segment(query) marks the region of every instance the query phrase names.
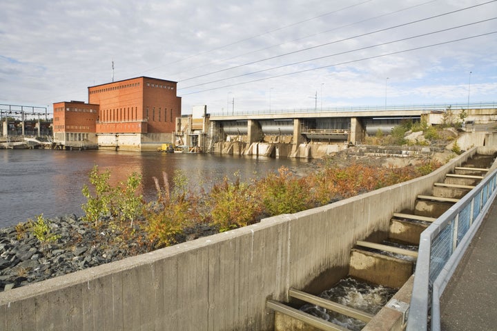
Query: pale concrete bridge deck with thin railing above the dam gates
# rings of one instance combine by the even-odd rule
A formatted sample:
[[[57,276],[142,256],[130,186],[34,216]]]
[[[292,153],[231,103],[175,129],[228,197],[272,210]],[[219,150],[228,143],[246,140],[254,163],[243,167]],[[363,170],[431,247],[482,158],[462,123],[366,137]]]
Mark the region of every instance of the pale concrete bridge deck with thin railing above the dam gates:
[[[320,112],[366,112],[366,111],[392,111],[392,110],[412,110],[420,111],[443,111],[451,107],[452,110],[459,109],[493,109],[497,108],[495,101],[484,101],[479,103],[428,103],[413,105],[391,105],[391,106],[349,106],[349,107],[329,107],[329,108],[294,108],[294,109],[262,109],[262,110],[237,110],[233,112],[211,112],[211,116],[239,116],[249,114],[293,114],[293,113],[320,113]]]

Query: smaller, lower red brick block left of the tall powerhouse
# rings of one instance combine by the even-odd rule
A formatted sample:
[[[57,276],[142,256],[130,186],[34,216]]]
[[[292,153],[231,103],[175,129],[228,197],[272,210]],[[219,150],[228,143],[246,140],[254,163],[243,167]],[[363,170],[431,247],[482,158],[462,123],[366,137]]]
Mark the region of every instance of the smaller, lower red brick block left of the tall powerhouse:
[[[99,105],[84,101],[64,101],[54,103],[53,110],[55,143],[75,147],[97,144],[95,133]]]

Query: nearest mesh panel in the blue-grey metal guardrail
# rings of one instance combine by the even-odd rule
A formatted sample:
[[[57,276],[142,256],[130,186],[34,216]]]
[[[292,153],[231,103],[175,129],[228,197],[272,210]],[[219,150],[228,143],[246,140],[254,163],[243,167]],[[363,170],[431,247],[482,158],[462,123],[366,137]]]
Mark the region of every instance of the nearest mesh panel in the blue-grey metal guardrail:
[[[430,257],[430,272],[429,281],[433,283],[440,271],[445,266],[452,254],[452,232],[454,228],[454,220],[445,226],[445,228],[438,233],[438,236],[431,243],[431,257]]]

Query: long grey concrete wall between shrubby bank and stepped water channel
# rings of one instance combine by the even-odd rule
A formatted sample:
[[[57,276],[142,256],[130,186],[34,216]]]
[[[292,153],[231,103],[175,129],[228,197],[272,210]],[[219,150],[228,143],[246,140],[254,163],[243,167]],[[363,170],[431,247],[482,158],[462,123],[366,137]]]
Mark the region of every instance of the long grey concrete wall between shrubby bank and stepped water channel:
[[[417,180],[2,292],[0,330],[272,330],[267,298],[329,287],[355,241],[387,232],[394,211],[474,152]]]

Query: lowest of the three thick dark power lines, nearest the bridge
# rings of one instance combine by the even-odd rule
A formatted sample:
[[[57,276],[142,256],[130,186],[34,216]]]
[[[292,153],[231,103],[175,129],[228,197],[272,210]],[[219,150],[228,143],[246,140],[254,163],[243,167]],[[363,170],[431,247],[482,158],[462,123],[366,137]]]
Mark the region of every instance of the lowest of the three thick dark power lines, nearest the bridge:
[[[313,70],[320,70],[320,69],[331,68],[331,67],[335,67],[335,66],[342,66],[344,64],[349,64],[349,63],[355,63],[355,62],[366,61],[366,60],[371,60],[371,59],[378,59],[380,57],[387,57],[387,56],[390,56],[390,55],[401,54],[401,53],[405,53],[405,52],[411,52],[413,50],[422,50],[422,49],[430,48],[430,47],[434,47],[434,46],[446,45],[447,43],[455,43],[457,41],[464,41],[464,40],[468,40],[468,39],[474,39],[474,38],[478,38],[478,37],[484,37],[484,36],[487,36],[487,35],[490,35],[490,34],[494,34],[494,33],[497,33],[497,31],[487,32],[487,33],[483,33],[483,34],[477,34],[475,36],[465,37],[465,38],[460,38],[460,39],[454,39],[454,40],[451,40],[451,41],[443,41],[441,43],[433,43],[433,44],[427,45],[427,46],[420,46],[420,47],[416,47],[416,48],[409,48],[407,50],[400,50],[400,51],[397,51],[397,52],[390,52],[390,53],[385,53],[385,54],[380,54],[380,55],[374,55],[372,57],[364,57],[362,59],[355,59],[355,60],[351,60],[351,61],[344,61],[344,62],[341,62],[341,63],[331,64],[331,65],[328,65],[328,66],[321,66],[321,67],[317,67],[317,68],[311,68],[311,69],[306,69],[306,70],[289,72],[289,73],[286,73],[286,74],[278,74],[278,75],[271,76],[271,77],[264,77],[264,78],[260,78],[260,79],[254,79],[252,81],[244,81],[244,82],[241,82],[241,83],[233,83],[233,84],[229,84],[229,85],[225,85],[225,86],[218,86],[216,88],[209,88],[209,89],[206,89],[206,90],[201,90],[201,91],[196,91],[196,92],[188,92],[188,93],[184,93],[183,95],[196,94],[196,93],[207,92],[207,91],[212,91],[212,90],[219,90],[221,88],[230,88],[232,86],[240,86],[240,85],[244,85],[244,84],[248,84],[248,83],[255,83],[257,81],[266,81],[268,79],[290,76],[291,74],[300,74],[302,72],[309,72],[309,71],[313,71]]]

